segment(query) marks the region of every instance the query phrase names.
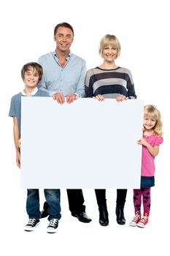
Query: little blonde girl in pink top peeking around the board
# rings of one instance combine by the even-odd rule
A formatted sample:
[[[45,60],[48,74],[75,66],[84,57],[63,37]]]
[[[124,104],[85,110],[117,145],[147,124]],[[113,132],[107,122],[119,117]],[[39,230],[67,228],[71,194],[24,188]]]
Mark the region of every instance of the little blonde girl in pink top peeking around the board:
[[[134,189],[134,219],[130,222],[132,227],[145,227],[150,215],[150,187],[155,186],[154,159],[159,153],[159,145],[163,143],[161,113],[154,105],[144,106],[143,138],[137,143],[142,145],[142,177],[141,189]],[[141,216],[141,203],[143,201],[144,214]]]

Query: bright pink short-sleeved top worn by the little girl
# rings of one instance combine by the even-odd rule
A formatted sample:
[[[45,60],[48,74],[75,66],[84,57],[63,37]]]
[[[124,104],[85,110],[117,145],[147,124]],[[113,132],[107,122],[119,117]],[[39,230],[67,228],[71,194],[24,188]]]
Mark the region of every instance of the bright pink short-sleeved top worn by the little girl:
[[[163,138],[161,136],[155,135],[153,133],[150,136],[143,135],[144,140],[147,140],[151,146],[159,146],[163,143]],[[142,146],[142,176],[154,176],[155,174],[155,157],[150,154],[146,146]]]

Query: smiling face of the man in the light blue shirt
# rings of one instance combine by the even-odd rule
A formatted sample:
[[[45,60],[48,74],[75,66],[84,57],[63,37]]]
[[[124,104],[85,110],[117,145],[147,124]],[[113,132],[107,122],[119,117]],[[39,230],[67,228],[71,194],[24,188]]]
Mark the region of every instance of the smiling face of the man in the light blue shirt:
[[[69,52],[69,48],[73,42],[72,30],[64,27],[59,27],[54,36],[57,50],[61,52]]]

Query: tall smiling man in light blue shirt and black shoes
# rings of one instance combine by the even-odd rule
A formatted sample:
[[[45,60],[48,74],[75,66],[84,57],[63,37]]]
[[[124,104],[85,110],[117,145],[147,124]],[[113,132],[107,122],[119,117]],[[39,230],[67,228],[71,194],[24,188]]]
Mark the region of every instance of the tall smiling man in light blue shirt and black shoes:
[[[44,74],[39,88],[48,91],[58,104],[72,103],[78,97],[85,96],[85,61],[70,52],[74,39],[74,30],[69,23],[59,23],[54,29],[55,51],[41,56],[38,60]],[[80,222],[90,222],[85,214],[82,189],[67,189],[69,210]],[[47,216],[47,202],[42,217]]]

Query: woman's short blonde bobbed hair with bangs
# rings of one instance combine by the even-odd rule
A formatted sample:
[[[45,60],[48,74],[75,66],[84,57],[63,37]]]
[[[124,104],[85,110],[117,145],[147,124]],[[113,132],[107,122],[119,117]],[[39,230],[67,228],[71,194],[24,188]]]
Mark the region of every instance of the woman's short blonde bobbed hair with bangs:
[[[113,47],[117,48],[117,57],[120,56],[120,42],[117,37],[114,36],[114,34],[106,34],[104,37],[101,38],[98,50],[98,53],[101,57],[103,57],[102,52],[104,47],[106,47],[107,45],[112,45]]]

